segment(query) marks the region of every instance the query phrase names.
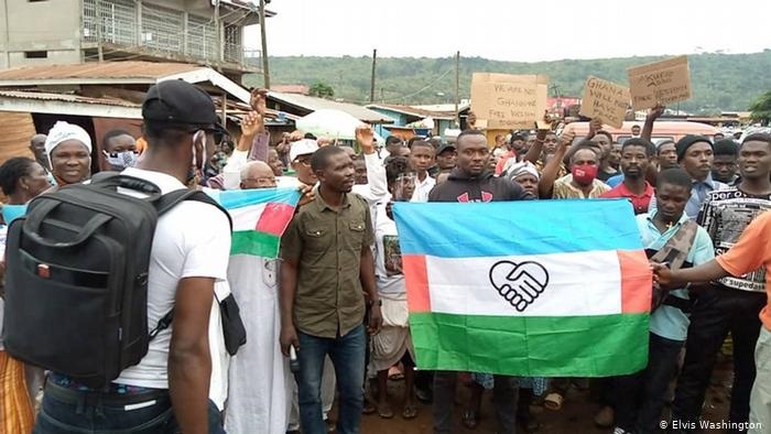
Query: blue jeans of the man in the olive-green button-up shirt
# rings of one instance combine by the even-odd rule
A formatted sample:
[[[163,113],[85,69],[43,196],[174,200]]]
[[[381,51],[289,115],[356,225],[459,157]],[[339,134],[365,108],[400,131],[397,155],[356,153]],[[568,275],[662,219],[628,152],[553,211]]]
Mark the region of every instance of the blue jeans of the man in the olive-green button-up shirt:
[[[329,355],[335,366],[339,391],[337,432],[357,434],[365,404],[365,351],[367,335],[363,326],[358,326],[345,336],[324,338],[297,332],[300,339],[300,372],[297,372],[297,394],[300,422],[305,434],[324,434],[327,431],[322,417],[322,371],[324,358]]]

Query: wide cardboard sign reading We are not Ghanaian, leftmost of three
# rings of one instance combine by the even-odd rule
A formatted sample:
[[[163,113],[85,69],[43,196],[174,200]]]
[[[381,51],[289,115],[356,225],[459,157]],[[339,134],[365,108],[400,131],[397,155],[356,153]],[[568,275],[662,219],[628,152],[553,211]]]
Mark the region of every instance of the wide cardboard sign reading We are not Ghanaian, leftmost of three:
[[[546,110],[547,82],[543,75],[474,73],[471,111],[493,130],[533,128]]]

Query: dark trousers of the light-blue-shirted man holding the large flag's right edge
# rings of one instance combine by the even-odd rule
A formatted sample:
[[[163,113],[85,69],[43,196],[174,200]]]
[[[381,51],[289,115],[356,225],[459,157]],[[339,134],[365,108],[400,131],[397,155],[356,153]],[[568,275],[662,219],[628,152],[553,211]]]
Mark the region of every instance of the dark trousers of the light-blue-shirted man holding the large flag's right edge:
[[[677,373],[677,356],[685,343],[650,334],[648,367],[615,378],[616,426],[638,434],[660,430],[670,381]]]

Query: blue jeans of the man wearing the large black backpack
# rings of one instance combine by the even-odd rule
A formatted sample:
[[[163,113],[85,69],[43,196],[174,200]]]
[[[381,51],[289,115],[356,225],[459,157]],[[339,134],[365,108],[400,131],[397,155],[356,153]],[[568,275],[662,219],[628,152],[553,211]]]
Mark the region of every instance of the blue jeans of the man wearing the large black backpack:
[[[47,390],[47,389],[46,389]],[[154,404],[135,410],[126,405],[100,402],[95,394],[77,392],[77,403],[44,393],[43,404],[33,434],[177,434],[180,426],[174,419],[169,393],[151,400]],[[115,395],[110,395],[115,397]],[[141,404],[139,404],[141,405]],[[209,433],[225,434],[222,420],[214,402],[209,401]]]

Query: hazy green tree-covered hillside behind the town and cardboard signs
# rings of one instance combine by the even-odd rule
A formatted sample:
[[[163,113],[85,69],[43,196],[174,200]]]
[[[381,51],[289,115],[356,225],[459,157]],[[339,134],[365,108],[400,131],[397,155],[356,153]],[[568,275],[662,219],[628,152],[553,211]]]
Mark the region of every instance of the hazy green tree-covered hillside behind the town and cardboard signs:
[[[463,54],[463,53],[461,53]],[[539,63],[499,62],[460,57],[460,97],[469,97],[471,74],[545,74],[550,96],[579,96],[589,75],[626,85],[627,68],[665,58],[625,57]],[[705,53],[688,56],[693,98],[681,110],[697,113],[747,110],[771,89],[771,50],[752,54]],[[370,57],[271,57],[272,84],[304,84],[348,101],[369,102]],[[376,102],[439,104],[455,97],[455,58],[378,58]],[[247,86],[261,86],[260,75],[245,77]]]

